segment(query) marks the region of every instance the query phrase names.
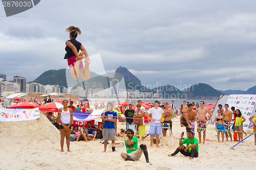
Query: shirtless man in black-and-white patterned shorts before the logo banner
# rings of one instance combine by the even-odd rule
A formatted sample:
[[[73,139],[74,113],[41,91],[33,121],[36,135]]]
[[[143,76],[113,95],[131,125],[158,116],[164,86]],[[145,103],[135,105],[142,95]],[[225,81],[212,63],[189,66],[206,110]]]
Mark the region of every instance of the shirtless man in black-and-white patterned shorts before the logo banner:
[[[232,120],[232,112],[230,110],[228,110],[228,104],[225,104],[224,107],[225,107],[225,111],[223,111],[222,114],[223,114],[223,117],[224,117],[224,127],[225,127],[225,131],[226,131],[225,135],[226,135],[226,138],[227,138],[226,141],[228,141],[228,135],[230,137],[230,140],[233,141],[232,140],[232,134],[230,132],[230,122]]]

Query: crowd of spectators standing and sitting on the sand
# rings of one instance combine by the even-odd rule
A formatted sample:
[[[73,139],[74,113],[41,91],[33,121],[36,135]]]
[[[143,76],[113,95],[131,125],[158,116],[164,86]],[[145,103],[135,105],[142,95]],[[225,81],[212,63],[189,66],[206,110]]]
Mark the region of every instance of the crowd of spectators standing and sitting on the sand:
[[[73,127],[73,132],[76,133],[76,141],[85,140],[88,141],[90,139],[89,134],[92,134],[93,140],[95,140],[96,135],[98,134],[96,130],[99,131],[101,135],[101,139],[103,139],[104,150],[106,152],[106,146],[108,144],[109,139],[112,144],[112,151],[115,152],[115,139],[117,135],[123,136],[125,140],[126,152],[121,153],[121,157],[124,160],[136,161],[140,159],[142,153],[144,153],[146,162],[150,163],[148,160],[148,153],[146,149],[146,145],[143,143],[138,147],[137,138],[134,137],[134,134],[138,132],[138,127],[143,125],[143,120],[147,118],[150,123],[150,129],[148,135],[150,135],[150,147],[153,147],[153,141],[156,143],[156,147],[159,146],[159,136],[166,136],[167,128],[169,127],[170,131],[172,131],[172,125],[174,117],[180,116],[180,126],[185,127],[186,129],[186,138],[183,138],[184,133],[181,134],[181,138],[179,141],[179,147],[176,151],[168,156],[175,156],[179,152],[185,156],[188,156],[189,159],[193,159],[198,157],[199,155],[199,143],[204,144],[206,139],[206,129],[208,125],[208,121],[212,116],[212,110],[205,108],[205,103],[201,101],[199,104],[193,102],[187,103],[186,101],[179,107],[179,111],[176,112],[177,108],[172,101],[172,104],[168,102],[164,102],[163,105],[160,104],[159,101],[155,101],[153,107],[144,108],[141,105],[141,101],[138,101],[135,109],[132,109],[133,105],[129,104],[127,109],[123,110],[123,114],[126,122],[126,133],[117,131],[117,122],[118,117],[116,110],[120,111],[120,108],[117,107],[115,102],[108,102],[106,105],[105,111],[103,111],[101,119],[102,124],[96,128],[91,126],[91,123],[88,123],[88,127],[81,132],[77,126]],[[71,132],[71,124],[72,124],[72,112],[76,110],[73,107],[73,103],[70,102],[68,106],[68,101],[64,100],[62,102],[63,108],[58,110],[58,122],[59,122],[59,130],[60,130],[60,145],[61,151],[63,151],[63,139],[66,137],[67,147],[69,150],[69,134]],[[95,109],[96,108],[96,105]],[[215,128],[217,131],[217,139],[219,142],[224,142],[224,134],[226,136],[226,141],[242,141],[243,140],[243,123],[245,122],[245,117],[242,115],[239,109],[235,110],[231,107],[229,110],[228,104],[224,105],[224,109],[222,106],[218,106],[218,114],[215,119]],[[115,109],[115,111],[113,110]],[[123,109],[123,108],[121,108]],[[256,112],[256,110],[255,110]],[[51,113],[49,113],[48,118],[51,117]],[[233,126],[230,125],[231,121],[234,121]],[[250,122],[253,124],[253,131],[256,130],[256,116],[251,116],[249,118]],[[197,124],[197,128],[195,128],[195,124]],[[136,129],[129,129],[129,125],[136,125]],[[195,137],[195,129],[198,132],[198,138]],[[232,140],[231,132],[238,132],[238,139]],[[203,136],[201,136],[203,133]],[[220,139],[220,135],[222,140]],[[256,145],[256,135],[254,134],[255,145]],[[183,145],[186,144],[186,145]]]

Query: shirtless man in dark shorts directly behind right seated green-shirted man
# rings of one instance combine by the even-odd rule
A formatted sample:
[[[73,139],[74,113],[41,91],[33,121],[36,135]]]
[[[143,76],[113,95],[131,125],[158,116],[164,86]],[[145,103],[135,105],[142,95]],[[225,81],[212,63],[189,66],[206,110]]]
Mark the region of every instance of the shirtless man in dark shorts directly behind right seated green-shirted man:
[[[195,121],[196,121],[196,111],[193,109],[193,105],[189,103],[188,109],[184,111],[180,116],[180,126],[186,127],[187,136],[188,136],[188,131],[191,131],[194,129],[194,127],[191,126],[191,123]]]

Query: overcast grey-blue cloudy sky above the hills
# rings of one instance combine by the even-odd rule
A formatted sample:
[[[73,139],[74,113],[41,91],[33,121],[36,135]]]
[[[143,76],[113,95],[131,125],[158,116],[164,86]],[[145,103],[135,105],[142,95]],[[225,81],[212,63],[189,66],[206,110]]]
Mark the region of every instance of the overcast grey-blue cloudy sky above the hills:
[[[54,0],[6,17],[0,5],[0,73],[33,81],[67,68],[65,28],[73,25],[106,72],[126,67],[143,85],[247,90],[256,85],[255,7],[234,0]]]

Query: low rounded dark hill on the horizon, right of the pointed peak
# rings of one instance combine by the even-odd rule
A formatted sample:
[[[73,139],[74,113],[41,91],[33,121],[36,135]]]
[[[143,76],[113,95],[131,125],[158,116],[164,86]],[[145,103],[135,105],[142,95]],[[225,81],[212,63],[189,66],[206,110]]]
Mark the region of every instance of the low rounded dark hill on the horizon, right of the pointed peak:
[[[219,97],[221,92],[212,88],[208,84],[198,83],[190,86],[185,91],[189,99],[202,99],[207,97]]]

